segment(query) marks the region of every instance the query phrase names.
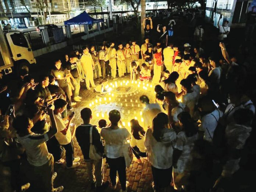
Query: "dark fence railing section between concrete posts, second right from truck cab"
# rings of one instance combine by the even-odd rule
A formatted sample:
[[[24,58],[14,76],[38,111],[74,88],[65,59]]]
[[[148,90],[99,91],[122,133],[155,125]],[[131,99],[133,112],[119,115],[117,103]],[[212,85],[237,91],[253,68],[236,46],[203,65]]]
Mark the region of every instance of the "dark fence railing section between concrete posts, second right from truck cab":
[[[49,40],[52,44],[60,43],[67,40],[67,29],[65,26],[51,28],[48,31]]]

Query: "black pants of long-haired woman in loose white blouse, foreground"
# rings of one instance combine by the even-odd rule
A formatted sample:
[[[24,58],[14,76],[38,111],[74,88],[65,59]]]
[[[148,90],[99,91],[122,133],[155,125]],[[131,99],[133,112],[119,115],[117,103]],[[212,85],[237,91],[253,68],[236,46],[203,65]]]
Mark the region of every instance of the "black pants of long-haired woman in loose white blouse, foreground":
[[[154,187],[156,190],[159,190],[161,188],[166,188],[171,184],[172,167],[168,169],[159,169],[151,166],[151,168],[152,168]]]

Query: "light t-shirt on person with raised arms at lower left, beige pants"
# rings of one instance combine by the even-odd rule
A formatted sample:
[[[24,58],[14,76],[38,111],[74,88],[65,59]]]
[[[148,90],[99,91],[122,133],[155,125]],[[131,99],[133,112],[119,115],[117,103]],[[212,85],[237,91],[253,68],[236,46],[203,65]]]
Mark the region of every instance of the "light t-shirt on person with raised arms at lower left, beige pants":
[[[49,140],[47,134],[40,135],[32,132],[24,137],[17,135],[17,138],[26,150],[29,164],[39,167],[50,160],[51,154],[48,153],[46,146],[46,141]]]

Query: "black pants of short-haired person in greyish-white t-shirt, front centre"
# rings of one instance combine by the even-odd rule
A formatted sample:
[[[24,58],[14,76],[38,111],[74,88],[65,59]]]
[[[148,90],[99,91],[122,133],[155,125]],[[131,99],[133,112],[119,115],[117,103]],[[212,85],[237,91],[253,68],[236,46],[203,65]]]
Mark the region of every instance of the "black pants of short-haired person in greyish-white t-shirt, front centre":
[[[118,157],[115,159],[111,159],[106,157],[107,163],[109,163],[109,176],[112,182],[112,185],[116,184],[116,177],[117,177],[117,172],[119,175],[119,180],[121,183],[122,190],[126,190],[126,166],[125,166],[125,160],[124,157]]]

